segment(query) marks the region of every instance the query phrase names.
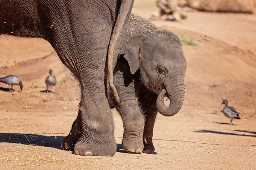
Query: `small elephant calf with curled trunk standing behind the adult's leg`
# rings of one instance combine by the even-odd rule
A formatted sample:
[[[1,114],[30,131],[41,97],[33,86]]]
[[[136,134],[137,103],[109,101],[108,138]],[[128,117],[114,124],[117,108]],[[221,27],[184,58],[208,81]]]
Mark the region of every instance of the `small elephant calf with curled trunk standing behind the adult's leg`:
[[[123,105],[114,102],[111,92],[110,101],[122,117],[122,146],[133,153],[154,153],[157,111],[173,116],[183,105],[186,59],[175,34],[135,14],[131,14],[125,42],[113,72]],[[164,103],[165,96],[169,106]]]

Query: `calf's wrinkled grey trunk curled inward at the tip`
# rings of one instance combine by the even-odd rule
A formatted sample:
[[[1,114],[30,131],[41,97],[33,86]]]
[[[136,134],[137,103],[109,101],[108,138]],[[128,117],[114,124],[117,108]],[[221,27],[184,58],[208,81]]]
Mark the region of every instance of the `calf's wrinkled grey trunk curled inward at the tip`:
[[[164,97],[170,100],[169,106],[164,103]],[[185,96],[184,80],[175,80],[171,86],[160,91],[157,96],[157,109],[163,116],[173,116],[180,111]]]

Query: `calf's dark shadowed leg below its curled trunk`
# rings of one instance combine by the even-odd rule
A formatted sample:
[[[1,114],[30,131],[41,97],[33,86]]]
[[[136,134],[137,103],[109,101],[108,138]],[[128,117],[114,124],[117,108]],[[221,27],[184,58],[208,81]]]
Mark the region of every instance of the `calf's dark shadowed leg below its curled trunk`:
[[[138,102],[143,106],[143,113],[145,114],[145,126],[143,132],[143,153],[154,153],[155,148],[152,138],[154,122],[157,116],[157,95],[152,94],[151,91],[145,92],[144,94],[140,94]]]

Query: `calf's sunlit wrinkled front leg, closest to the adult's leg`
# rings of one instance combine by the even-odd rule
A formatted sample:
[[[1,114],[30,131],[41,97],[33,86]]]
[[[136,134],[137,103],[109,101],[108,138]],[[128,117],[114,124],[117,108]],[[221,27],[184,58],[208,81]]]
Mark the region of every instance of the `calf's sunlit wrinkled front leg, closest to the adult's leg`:
[[[116,107],[124,127],[122,146],[128,152],[141,153],[143,151],[144,119],[137,105],[134,82],[131,82],[128,86],[125,85],[122,73],[118,73],[113,75],[113,79],[118,95],[123,101],[122,106],[117,105]]]

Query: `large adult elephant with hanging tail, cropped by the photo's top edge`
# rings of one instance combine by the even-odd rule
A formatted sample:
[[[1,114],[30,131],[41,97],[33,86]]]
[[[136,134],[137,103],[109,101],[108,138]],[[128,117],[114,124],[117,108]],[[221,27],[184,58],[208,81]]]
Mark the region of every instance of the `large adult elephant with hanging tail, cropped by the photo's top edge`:
[[[113,86],[113,65],[133,3],[134,0],[0,1],[0,34],[49,41],[80,83],[77,122],[81,135],[74,146],[75,154],[113,156],[116,152],[107,77],[109,72],[110,86],[119,102]]]

